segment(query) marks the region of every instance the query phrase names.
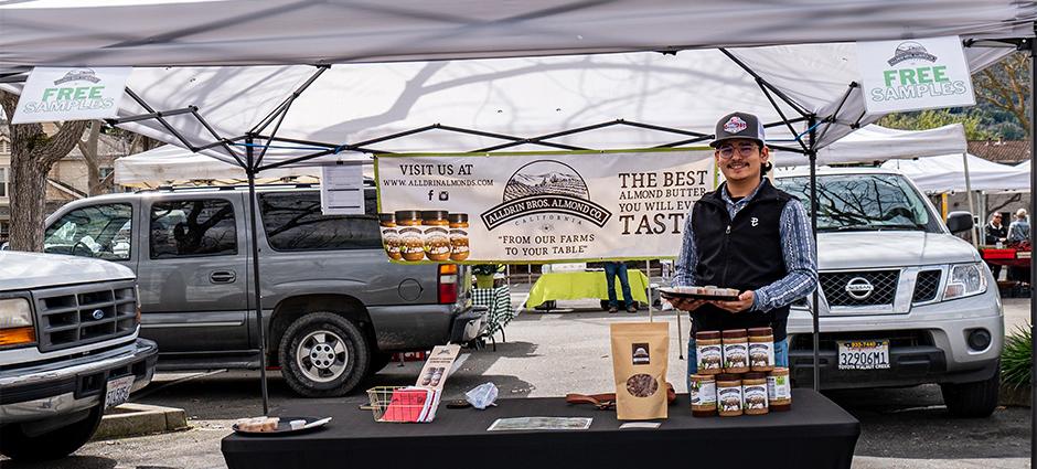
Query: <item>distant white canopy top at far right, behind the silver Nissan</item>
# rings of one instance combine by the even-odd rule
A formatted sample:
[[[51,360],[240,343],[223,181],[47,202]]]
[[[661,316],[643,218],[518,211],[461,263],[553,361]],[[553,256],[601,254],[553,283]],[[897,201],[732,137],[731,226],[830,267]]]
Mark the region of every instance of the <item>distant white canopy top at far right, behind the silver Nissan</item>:
[[[969,154],[969,179],[973,191],[997,192],[1029,190],[1029,168],[999,164]],[[895,169],[915,181],[926,192],[961,192],[965,190],[965,167],[961,153],[889,160],[883,168]]]

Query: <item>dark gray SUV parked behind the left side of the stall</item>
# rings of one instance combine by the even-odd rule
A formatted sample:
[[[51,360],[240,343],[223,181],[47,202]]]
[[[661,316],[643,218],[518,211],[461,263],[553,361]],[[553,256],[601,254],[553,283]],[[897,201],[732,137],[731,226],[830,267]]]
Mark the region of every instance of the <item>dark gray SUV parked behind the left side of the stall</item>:
[[[137,273],[160,370],[257,369],[247,198],[223,186],[79,200],[47,218],[45,251]],[[482,333],[467,267],[389,263],[372,189],[364,215],[322,215],[306,184],[256,198],[268,363],[299,394],[343,395],[392,352]]]

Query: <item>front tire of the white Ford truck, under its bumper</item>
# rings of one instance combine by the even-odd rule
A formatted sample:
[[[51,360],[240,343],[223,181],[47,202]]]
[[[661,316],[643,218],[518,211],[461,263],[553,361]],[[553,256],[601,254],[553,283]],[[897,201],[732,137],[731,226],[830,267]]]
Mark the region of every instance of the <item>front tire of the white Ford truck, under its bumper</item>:
[[[21,425],[8,425],[0,429],[0,452],[18,461],[64,458],[94,436],[104,414],[104,405],[98,405],[88,411],[86,418],[36,436],[25,435]]]

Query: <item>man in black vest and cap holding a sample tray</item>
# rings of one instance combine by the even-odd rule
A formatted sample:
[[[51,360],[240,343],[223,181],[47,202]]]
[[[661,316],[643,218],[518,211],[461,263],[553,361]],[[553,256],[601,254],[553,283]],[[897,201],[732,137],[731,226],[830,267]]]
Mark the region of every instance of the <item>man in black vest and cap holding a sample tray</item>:
[[[726,181],[688,213],[673,285],[715,285],[741,294],[735,301],[670,300],[692,316],[688,374],[697,370],[697,331],[770,327],[776,364],[788,366],[789,305],[817,286],[806,212],[763,178],[771,168],[770,152],[756,116],[724,116],[709,145]]]

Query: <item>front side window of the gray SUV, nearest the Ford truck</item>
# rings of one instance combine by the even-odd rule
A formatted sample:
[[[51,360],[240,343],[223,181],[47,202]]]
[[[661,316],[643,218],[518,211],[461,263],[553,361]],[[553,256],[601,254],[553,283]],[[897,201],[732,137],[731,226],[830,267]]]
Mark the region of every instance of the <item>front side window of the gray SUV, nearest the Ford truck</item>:
[[[132,247],[132,228],[133,207],[128,203],[84,206],[47,226],[43,233],[43,251],[127,260]]]

